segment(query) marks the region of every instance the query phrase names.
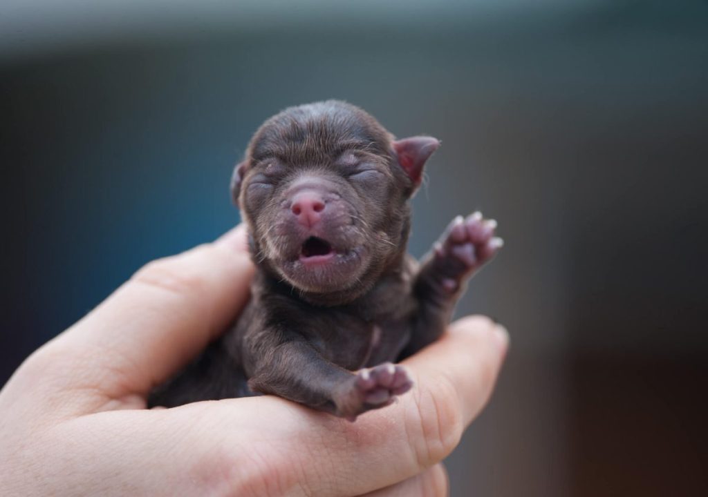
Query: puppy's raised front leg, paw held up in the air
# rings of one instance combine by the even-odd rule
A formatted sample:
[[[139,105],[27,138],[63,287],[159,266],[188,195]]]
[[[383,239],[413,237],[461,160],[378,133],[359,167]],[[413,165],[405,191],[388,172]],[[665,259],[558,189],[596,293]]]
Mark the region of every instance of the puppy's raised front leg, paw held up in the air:
[[[467,218],[457,216],[435,242],[413,285],[419,312],[404,356],[440,337],[469,277],[502,247],[501,238],[494,236],[495,229],[496,221],[475,212]]]

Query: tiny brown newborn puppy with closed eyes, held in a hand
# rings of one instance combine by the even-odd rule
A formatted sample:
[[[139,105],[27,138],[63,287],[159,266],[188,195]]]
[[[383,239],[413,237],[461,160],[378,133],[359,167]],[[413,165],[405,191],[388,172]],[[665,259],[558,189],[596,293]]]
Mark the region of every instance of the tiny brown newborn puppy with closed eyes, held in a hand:
[[[404,394],[399,361],[445,330],[474,270],[501,247],[496,222],[455,218],[421,264],[406,254],[423,165],[440,142],[395,140],[336,100],[266,121],[232,195],[258,271],[233,329],[152,405],[275,394],[355,419]]]

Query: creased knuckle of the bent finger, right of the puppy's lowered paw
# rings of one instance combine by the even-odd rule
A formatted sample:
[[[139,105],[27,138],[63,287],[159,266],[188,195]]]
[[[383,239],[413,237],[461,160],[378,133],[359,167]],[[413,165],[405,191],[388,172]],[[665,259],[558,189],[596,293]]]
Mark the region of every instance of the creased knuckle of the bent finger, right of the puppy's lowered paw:
[[[416,396],[419,441],[414,443],[418,465],[430,467],[440,462],[457,447],[464,431],[462,409],[457,391],[447,378]]]

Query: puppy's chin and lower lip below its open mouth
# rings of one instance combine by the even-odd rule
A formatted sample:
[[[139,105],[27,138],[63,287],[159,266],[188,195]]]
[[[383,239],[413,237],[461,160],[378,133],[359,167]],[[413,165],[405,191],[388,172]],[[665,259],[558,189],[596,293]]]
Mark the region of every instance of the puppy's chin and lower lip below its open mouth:
[[[370,263],[367,247],[327,250],[328,247],[318,243],[312,242],[312,251],[304,250],[297,257],[271,264],[285,281],[302,292],[341,293],[358,286]]]

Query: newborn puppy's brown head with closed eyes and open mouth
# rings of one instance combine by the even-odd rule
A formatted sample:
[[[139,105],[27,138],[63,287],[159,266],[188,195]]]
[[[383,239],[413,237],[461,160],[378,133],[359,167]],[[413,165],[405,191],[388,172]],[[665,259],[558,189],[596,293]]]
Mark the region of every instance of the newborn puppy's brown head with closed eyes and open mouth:
[[[438,145],[336,100],[271,117],[232,179],[256,262],[309,300],[354,300],[406,250],[407,201]]]

